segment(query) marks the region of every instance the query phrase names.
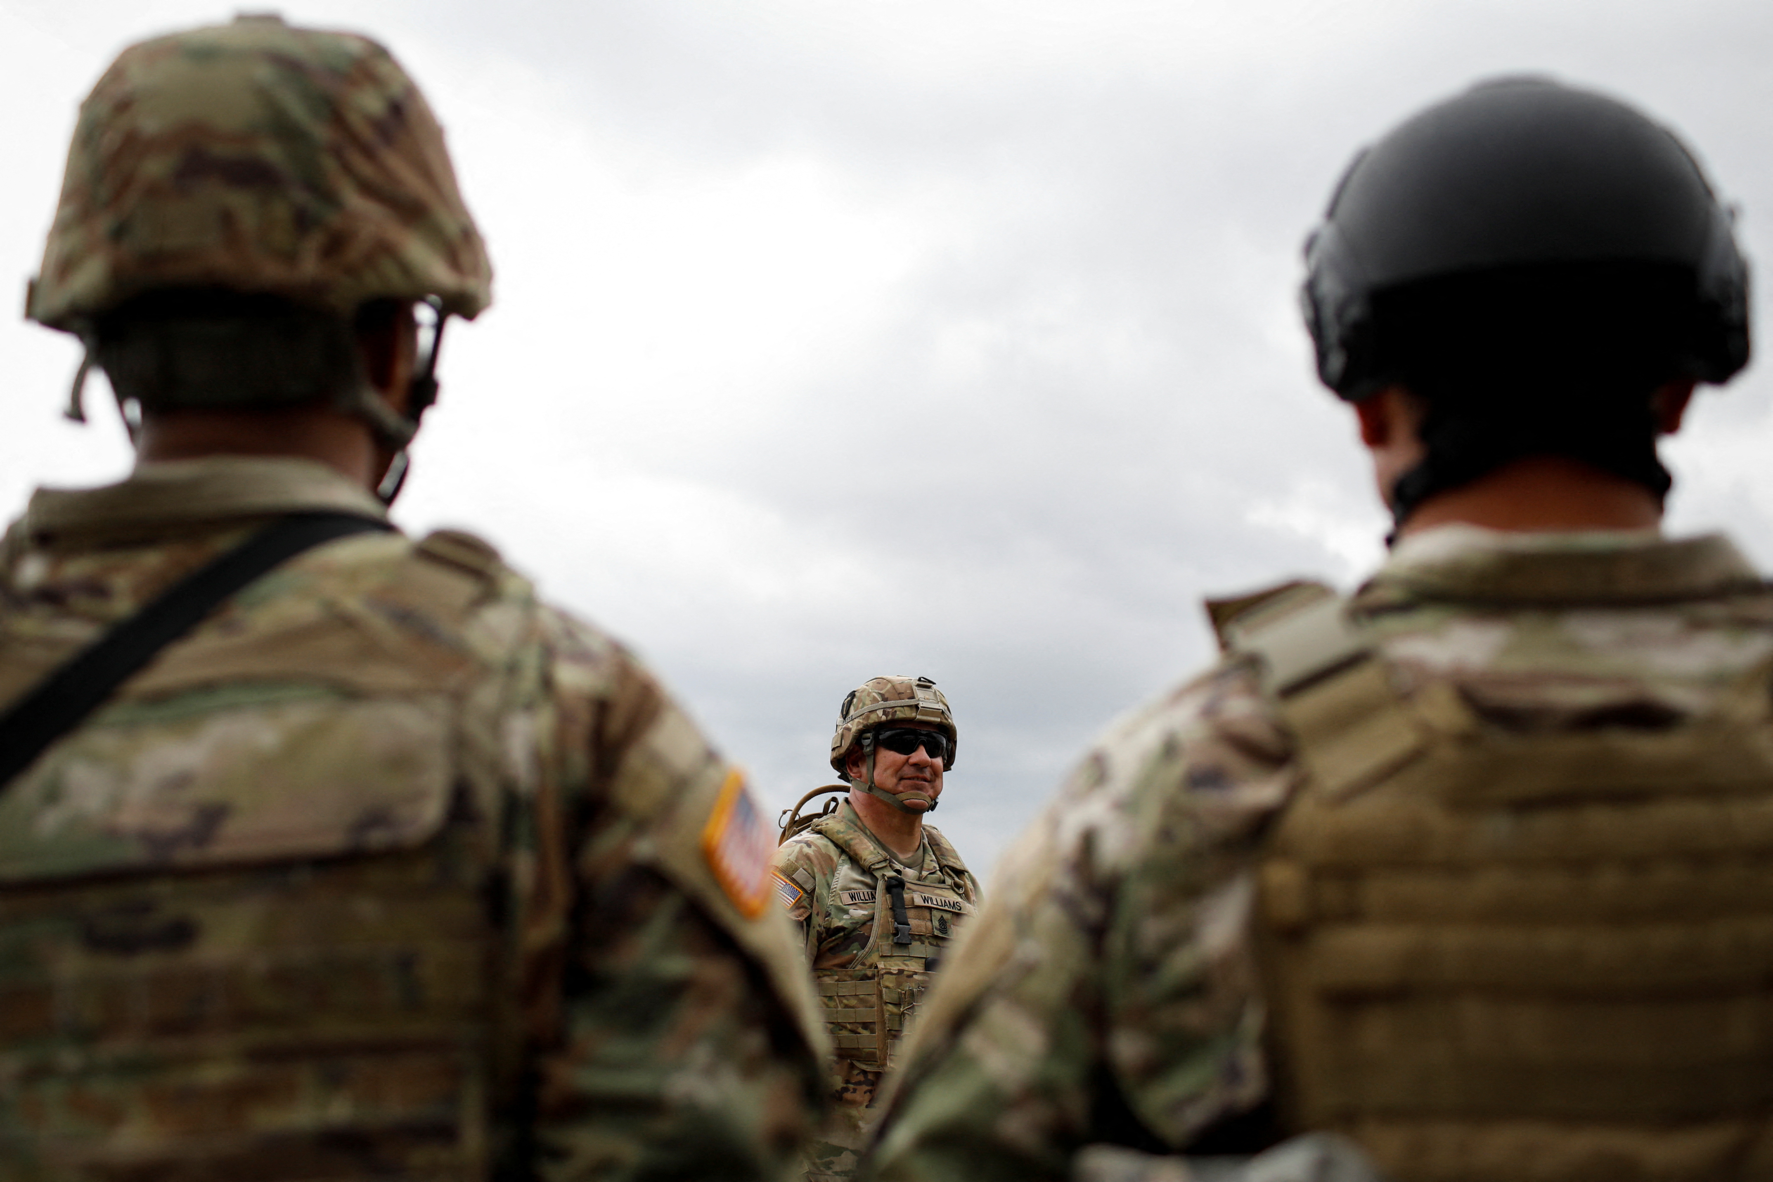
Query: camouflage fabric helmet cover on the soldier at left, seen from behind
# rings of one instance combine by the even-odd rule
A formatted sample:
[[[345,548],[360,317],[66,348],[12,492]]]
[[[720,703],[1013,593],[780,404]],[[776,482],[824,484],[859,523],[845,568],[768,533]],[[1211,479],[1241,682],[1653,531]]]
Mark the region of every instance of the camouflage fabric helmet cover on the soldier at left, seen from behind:
[[[129,46],[99,78],[25,312],[80,333],[161,287],[344,314],[436,296],[473,317],[491,264],[443,131],[387,50],[241,16]]]

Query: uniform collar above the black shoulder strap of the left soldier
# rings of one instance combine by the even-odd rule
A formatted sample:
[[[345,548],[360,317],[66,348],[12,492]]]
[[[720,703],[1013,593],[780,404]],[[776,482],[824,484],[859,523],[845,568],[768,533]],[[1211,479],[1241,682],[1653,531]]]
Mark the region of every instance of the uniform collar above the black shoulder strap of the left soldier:
[[[37,489],[25,509],[25,532],[67,539],[303,510],[388,516],[367,489],[326,464],[211,455],[142,464],[129,478],[96,489]]]

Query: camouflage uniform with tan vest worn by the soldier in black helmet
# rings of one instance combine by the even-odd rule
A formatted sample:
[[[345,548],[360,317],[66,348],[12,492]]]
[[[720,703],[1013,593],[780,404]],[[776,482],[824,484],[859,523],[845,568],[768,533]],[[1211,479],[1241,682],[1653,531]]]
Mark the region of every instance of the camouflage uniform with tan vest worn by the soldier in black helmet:
[[[1278,693],[1300,603],[1218,604],[1229,659],[1012,847],[878,1177],[1067,1178],[1275,1102],[1395,1182],[1773,1177],[1773,594],[1720,537],[1447,526]]]

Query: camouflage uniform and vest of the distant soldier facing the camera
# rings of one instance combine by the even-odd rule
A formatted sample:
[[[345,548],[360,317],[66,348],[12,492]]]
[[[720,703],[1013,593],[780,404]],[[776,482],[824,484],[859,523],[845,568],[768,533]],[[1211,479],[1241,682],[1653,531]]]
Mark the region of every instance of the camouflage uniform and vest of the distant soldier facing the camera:
[[[943,950],[979,902],[979,883],[949,840],[934,826],[922,829],[917,858],[899,861],[844,801],[775,858],[777,893],[801,925],[837,1049],[837,1111],[808,1150],[808,1182],[855,1175],[881,1074]],[[894,879],[904,883],[911,927],[904,945],[894,939]]]

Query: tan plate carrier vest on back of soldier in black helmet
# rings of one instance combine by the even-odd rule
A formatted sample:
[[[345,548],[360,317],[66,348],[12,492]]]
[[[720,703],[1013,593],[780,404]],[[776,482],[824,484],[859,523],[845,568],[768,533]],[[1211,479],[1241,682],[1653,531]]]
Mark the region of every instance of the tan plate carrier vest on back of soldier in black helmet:
[[[1402,698],[1323,587],[1220,633],[1303,769],[1257,879],[1291,1127],[1392,1182],[1773,1178],[1773,670],[1523,730]]]

